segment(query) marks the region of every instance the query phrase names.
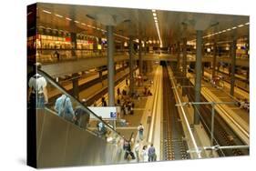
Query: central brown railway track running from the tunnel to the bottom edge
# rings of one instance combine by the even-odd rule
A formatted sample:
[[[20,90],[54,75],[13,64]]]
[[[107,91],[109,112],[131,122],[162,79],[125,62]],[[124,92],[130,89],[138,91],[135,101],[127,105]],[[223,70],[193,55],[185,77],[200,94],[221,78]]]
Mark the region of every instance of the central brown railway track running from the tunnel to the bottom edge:
[[[167,67],[163,65],[163,159],[189,159],[188,145],[184,140],[175,97],[170,87]]]

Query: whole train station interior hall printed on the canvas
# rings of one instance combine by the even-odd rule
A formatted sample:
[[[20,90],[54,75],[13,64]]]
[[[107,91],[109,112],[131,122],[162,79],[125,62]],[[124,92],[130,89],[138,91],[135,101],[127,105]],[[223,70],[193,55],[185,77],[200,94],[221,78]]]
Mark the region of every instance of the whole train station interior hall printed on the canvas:
[[[38,167],[250,155],[249,16],[37,3],[27,22]]]

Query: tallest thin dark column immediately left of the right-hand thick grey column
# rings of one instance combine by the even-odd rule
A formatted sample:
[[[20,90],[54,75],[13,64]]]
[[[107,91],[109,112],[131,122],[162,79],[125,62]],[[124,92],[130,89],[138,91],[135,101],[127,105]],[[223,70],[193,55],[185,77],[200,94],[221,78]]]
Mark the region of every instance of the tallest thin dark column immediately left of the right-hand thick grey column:
[[[182,85],[187,85],[187,38],[183,38],[183,56],[182,56]],[[186,87],[182,87],[182,96],[186,95]]]

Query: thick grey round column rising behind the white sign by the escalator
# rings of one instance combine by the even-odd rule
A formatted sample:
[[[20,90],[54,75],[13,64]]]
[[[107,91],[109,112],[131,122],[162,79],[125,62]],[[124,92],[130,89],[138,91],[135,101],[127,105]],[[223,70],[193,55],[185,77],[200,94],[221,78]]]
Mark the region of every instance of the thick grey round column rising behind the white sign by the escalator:
[[[115,80],[114,80],[114,26],[107,25],[108,43],[108,106],[115,106]]]

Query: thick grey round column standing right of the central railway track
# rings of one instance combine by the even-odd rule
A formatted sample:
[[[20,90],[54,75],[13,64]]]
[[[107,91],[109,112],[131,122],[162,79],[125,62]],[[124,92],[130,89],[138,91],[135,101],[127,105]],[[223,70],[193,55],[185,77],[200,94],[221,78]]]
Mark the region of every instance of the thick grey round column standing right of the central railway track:
[[[200,89],[201,89],[201,43],[202,43],[202,30],[197,30],[197,55],[196,55],[196,82],[195,82],[195,102],[200,102]],[[200,124],[200,105],[195,105],[194,108],[194,125]]]

